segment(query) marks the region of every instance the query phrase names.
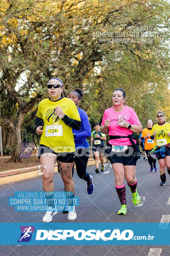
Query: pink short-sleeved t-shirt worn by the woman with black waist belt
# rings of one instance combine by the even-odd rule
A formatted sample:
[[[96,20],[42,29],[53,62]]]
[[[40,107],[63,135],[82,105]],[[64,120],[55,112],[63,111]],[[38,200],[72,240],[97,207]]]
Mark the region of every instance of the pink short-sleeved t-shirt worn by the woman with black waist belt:
[[[131,125],[140,124],[139,118],[137,117],[136,112],[133,110],[133,108],[125,106],[124,110],[119,113],[115,112],[113,107],[108,108],[104,112],[102,124],[101,124],[101,126],[104,125],[105,120],[107,119],[111,120],[108,135],[128,136],[130,134],[133,134],[133,131],[130,131],[125,127],[119,126],[118,120],[120,118],[125,119],[125,121],[130,123]],[[136,143],[136,140],[133,140],[133,141],[134,143]],[[109,140],[109,143],[111,145],[131,145],[130,140],[128,138]]]

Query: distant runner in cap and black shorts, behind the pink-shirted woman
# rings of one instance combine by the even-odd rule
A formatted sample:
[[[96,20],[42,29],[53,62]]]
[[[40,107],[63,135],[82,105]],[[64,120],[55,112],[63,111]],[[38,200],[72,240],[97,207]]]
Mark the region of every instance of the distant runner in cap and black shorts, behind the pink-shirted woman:
[[[103,154],[105,151],[105,143],[104,140],[106,140],[106,135],[102,134],[102,132],[100,131],[100,125],[98,122],[95,123],[94,125],[94,129],[95,131],[92,131],[91,134],[91,141],[93,142],[93,147],[92,150],[94,152],[94,156],[95,156],[95,165],[96,165],[96,173],[99,173],[99,159],[101,162],[101,172],[104,171],[104,158],[103,158]]]

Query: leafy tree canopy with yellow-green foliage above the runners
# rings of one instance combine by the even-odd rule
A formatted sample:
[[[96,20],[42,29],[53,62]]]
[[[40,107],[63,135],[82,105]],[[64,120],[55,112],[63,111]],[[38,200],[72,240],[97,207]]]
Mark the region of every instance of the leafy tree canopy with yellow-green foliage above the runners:
[[[0,124],[12,160],[19,155],[20,130],[35,118],[53,76],[67,92],[86,87],[80,107],[91,125],[112,106],[117,87],[143,125],[158,109],[168,113],[166,1],[0,0],[0,6]]]

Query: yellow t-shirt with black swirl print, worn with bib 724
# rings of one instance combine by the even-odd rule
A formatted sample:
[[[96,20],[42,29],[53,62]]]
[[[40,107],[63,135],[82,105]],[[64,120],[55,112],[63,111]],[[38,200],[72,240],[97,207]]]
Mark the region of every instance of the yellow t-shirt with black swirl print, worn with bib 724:
[[[65,115],[72,119],[81,121],[79,112],[71,99],[63,98],[57,102],[49,99],[43,99],[38,106],[37,116],[43,119],[44,128],[40,139],[40,144],[52,148],[55,152],[74,152],[75,143],[72,128],[65,122],[57,118],[55,108],[59,106]],[[62,136],[45,136],[45,127],[47,125],[62,125]],[[55,129],[54,129],[55,130]],[[53,132],[53,131],[52,131]]]

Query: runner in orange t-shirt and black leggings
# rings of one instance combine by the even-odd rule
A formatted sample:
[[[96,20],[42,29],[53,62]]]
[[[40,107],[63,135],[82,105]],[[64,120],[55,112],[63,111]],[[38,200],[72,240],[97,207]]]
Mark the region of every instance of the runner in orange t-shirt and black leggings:
[[[153,172],[153,168],[155,172],[157,172],[158,169],[156,168],[156,159],[153,159],[150,155],[150,151],[156,146],[156,140],[150,139],[150,132],[152,130],[152,126],[153,126],[153,121],[149,119],[147,121],[147,128],[144,128],[142,131],[141,139],[144,140],[144,150],[147,154],[147,160],[150,165],[150,172]]]

